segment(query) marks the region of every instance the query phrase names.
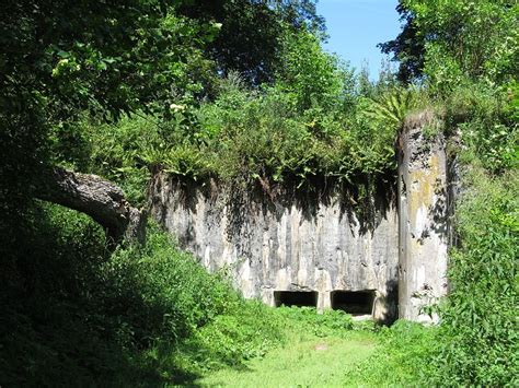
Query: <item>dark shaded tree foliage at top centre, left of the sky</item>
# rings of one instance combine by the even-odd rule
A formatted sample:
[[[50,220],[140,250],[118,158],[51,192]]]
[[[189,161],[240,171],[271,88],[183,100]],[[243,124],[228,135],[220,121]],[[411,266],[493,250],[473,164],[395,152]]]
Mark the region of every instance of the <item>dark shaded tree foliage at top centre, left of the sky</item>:
[[[258,86],[272,83],[275,73],[285,66],[280,52],[287,30],[293,33],[325,30],[315,3],[315,0],[185,1],[180,12],[219,23],[220,31],[207,47],[209,56],[223,74],[239,72],[247,85]]]

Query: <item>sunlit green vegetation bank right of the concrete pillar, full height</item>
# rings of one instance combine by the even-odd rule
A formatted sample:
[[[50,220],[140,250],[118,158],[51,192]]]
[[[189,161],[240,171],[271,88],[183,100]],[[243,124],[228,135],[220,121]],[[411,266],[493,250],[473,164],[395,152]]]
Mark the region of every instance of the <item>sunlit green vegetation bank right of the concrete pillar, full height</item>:
[[[519,9],[514,1],[404,0],[400,10],[407,24],[385,47],[406,59],[401,75],[423,78],[451,137],[461,178],[458,244],[439,327],[396,325],[388,343],[396,351],[377,360],[402,372],[395,384],[516,386]]]

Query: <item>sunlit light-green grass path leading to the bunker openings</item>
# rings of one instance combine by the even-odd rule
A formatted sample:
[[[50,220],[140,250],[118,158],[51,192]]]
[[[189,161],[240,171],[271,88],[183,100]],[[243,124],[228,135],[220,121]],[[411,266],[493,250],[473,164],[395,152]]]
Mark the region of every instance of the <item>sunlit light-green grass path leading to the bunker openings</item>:
[[[355,330],[349,317],[286,309],[286,341],[241,368],[215,371],[203,387],[344,387],[345,376],[374,353],[377,336]],[[359,381],[361,383],[361,381]],[[357,381],[351,381],[358,386]]]

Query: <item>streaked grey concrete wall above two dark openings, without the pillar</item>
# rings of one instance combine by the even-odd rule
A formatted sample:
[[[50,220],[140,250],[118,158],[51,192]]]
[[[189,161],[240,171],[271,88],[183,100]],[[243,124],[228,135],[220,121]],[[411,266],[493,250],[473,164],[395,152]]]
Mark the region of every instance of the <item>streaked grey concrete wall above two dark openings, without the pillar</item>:
[[[318,291],[318,307],[326,308],[334,290],[374,290],[373,317],[396,315],[399,223],[387,199],[376,198],[370,220],[359,220],[341,193],[272,201],[162,175],[152,203],[181,246],[211,271],[227,267],[245,297],[273,305],[274,291]]]

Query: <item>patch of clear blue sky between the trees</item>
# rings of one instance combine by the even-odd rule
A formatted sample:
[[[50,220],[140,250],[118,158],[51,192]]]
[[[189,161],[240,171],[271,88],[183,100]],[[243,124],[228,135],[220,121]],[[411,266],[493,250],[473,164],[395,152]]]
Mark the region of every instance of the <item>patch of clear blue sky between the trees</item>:
[[[319,0],[318,13],[326,20],[326,50],[336,52],[360,70],[368,62],[371,79],[377,79],[385,57],[377,44],[399,35],[397,0]]]

